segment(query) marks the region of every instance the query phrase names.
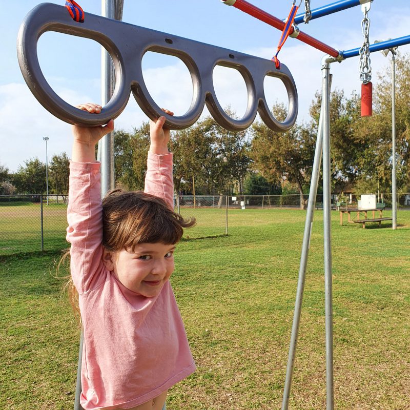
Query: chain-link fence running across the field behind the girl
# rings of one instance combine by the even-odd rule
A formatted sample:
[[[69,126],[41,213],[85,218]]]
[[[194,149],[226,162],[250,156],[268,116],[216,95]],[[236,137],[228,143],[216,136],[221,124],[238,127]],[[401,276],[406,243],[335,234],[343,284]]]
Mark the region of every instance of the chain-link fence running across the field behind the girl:
[[[339,196],[332,195],[336,209]],[[341,198],[343,204],[355,206],[359,194]],[[197,224],[185,231],[185,238],[203,238],[229,233],[229,212],[247,209],[300,209],[309,195],[179,195],[174,197],[175,210],[184,217],[194,217]],[[391,193],[377,195],[378,202],[392,206]],[[410,193],[397,196],[399,210],[410,210]],[[323,207],[323,196],[317,195],[316,209]],[[263,216],[261,216],[263,218]],[[40,250],[63,250],[66,242],[67,196],[12,195],[0,196],[0,255]]]

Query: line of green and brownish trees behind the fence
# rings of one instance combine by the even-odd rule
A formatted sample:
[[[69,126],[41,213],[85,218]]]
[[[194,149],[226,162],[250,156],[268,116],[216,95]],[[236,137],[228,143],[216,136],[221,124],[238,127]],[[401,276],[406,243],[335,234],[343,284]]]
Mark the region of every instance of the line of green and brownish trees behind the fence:
[[[396,57],[396,171],[397,187],[410,189],[410,56]],[[331,167],[333,189],[355,187],[358,192],[391,191],[392,97],[391,68],[379,75],[374,87],[373,116],[360,116],[360,96],[334,90],[330,98]],[[230,132],[211,117],[171,133],[174,152],[174,185],[181,194],[309,193],[321,106],[317,93],[310,106],[310,119],[285,133],[263,122],[242,132]],[[235,116],[235,113],[229,112]],[[276,104],[274,115],[286,116]],[[115,132],[115,180],[129,190],[144,187],[149,148],[148,122],[131,132]],[[55,155],[48,167],[49,193],[67,194],[66,153]],[[0,193],[45,193],[46,166],[32,158],[10,173],[0,165]]]

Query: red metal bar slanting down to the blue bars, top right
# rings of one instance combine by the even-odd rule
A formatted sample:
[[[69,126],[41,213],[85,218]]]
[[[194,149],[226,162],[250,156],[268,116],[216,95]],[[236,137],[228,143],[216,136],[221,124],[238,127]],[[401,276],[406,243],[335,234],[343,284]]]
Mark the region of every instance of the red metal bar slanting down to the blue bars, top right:
[[[282,20],[279,18],[273,16],[272,14],[269,14],[258,7],[254,6],[251,3],[248,3],[245,0],[222,0],[224,4],[227,4],[228,6],[234,6],[235,8],[243,11],[244,13],[247,13],[253,17],[256,17],[257,19],[261,20],[263,23],[267,23],[272,27],[277,28],[278,30],[282,31],[283,27],[285,25]],[[290,34],[294,32],[294,28],[292,27]],[[298,40],[300,40],[303,43],[309,44],[310,46],[323,51],[326,54],[330,54],[332,57],[338,57],[339,56],[339,51],[328,46],[327,44],[322,43],[318,39],[306,34],[302,33],[301,31],[299,32],[298,36],[296,37]]]

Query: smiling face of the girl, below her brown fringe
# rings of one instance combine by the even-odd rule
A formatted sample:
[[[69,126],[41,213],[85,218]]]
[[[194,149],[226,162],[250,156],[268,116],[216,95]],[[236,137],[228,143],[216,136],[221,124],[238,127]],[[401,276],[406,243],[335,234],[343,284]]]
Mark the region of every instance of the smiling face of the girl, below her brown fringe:
[[[103,261],[116,278],[142,296],[157,296],[174,272],[175,245],[140,243],[134,252],[104,250]]]

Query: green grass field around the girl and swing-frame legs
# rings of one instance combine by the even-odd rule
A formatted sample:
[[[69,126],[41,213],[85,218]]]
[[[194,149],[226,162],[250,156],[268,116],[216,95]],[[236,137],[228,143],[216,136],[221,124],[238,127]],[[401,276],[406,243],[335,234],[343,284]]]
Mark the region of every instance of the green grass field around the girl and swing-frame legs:
[[[304,219],[297,210],[232,210],[228,236],[178,245],[171,281],[198,369],[170,390],[170,410],[280,408]],[[332,213],[335,409],[410,408],[409,234],[407,211],[397,231],[388,222],[340,226]],[[79,331],[55,278],[58,257],[0,257],[0,408],[73,408]],[[323,287],[316,211],[293,410],[325,408]]]

